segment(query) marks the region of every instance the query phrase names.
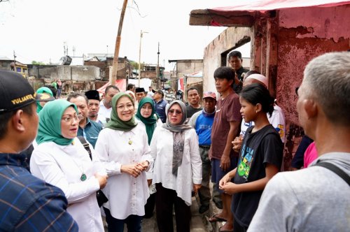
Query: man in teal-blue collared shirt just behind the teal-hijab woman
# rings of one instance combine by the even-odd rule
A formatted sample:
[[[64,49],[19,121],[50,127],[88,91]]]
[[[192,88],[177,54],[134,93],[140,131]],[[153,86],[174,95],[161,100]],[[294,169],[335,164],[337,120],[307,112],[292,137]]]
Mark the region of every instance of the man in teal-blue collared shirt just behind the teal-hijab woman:
[[[84,94],[73,93],[69,94],[67,101],[76,104],[78,108],[79,128],[78,136],[84,136],[84,138],[94,147],[97,138],[99,137],[99,131],[102,130],[102,125],[98,122],[94,122],[87,117],[88,99]]]

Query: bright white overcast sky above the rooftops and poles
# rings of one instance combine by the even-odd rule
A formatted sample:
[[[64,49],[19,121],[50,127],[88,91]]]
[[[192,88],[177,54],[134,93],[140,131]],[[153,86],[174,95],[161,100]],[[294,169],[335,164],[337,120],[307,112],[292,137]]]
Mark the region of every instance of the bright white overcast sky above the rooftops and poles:
[[[139,6],[139,13],[136,4]],[[190,11],[230,6],[232,0],[129,0],[125,12],[119,57],[157,64],[172,70],[168,59],[202,59],[204,48],[226,27],[190,26]],[[30,64],[53,63],[69,55],[113,53],[123,0],[9,0],[0,2],[0,57]],[[140,15],[142,16],[140,16]],[[243,51],[249,57],[249,51]],[[164,61],[164,63],[163,63]]]

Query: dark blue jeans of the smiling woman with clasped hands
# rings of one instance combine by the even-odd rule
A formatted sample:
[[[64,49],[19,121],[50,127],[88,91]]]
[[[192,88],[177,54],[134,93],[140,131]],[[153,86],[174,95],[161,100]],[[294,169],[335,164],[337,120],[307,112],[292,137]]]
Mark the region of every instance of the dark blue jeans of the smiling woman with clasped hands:
[[[106,214],[109,232],[123,232],[124,224],[127,224],[128,232],[141,232],[142,216],[129,215],[125,219],[116,219],[107,208],[104,208],[104,213]]]

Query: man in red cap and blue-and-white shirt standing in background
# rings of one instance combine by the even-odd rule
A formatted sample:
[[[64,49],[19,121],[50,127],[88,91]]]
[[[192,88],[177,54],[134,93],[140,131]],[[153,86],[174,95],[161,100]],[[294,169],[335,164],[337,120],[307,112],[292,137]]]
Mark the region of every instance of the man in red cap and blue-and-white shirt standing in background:
[[[197,132],[200,144],[200,156],[202,158],[202,187],[198,191],[200,196],[200,213],[209,210],[211,199],[209,180],[211,173],[211,161],[209,159],[209,149],[211,145],[211,126],[214,122],[216,106],[216,94],[214,92],[205,92],[203,94],[203,110],[195,113],[188,124],[193,126]],[[213,188],[213,201],[219,207],[222,205],[220,194]],[[221,206],[222,208],[222,206]]]

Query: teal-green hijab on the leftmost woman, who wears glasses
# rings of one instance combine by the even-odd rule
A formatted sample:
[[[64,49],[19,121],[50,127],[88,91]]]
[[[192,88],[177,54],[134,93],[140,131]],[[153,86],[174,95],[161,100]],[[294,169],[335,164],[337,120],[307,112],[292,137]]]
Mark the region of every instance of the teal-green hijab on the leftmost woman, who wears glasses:
[[[73,142],[73,138],[64,138],[61,132],[62,115],[66,108],[73,106],[78,114],[76,105],[69,101],[58,99],[46,103],[43,110],[39,114],[38,136],[36,143],[54,142],[58,145],[69,145]]]

